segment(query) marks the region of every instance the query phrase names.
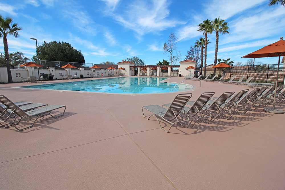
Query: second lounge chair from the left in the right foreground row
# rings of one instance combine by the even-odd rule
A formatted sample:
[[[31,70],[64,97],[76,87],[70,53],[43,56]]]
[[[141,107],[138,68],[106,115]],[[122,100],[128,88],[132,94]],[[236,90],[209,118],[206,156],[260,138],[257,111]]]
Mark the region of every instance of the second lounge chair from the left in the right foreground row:
[[[186,114],[188,119],[191,120],[191,122],[188,123],[187,126],[193,127],[196,122],[201,121],[201,115],[200,111],[201,109],[206,105],[206,103],[213,97],[215,93],[214,92],[205,92],[202,93],[196,101],[188,101],[187,106],[184,107],[182,112],[182,117]],[[163,107],[169,107],[170,104],[163,104]],[[188,107],[190,106],[190,107]],[[195,118],[195,116],[197,116]],[[192,122],[194,122],[192,124]]]

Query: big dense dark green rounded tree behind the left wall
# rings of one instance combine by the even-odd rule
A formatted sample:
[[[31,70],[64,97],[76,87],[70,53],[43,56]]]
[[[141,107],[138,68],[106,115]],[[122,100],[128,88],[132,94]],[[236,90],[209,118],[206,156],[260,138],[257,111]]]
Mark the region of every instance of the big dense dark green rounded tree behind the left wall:
[[[33,59],[85,63],[84,56],[82,55],[80,50],[76,50],[67,42],[57,41],[52,41],[49,43],[44,42],[42,45],[38,46],[38,48],[36,49],[36,54],[33,56]],[[74,66],[82,66],[82,64],[76,63],[74,64]]]

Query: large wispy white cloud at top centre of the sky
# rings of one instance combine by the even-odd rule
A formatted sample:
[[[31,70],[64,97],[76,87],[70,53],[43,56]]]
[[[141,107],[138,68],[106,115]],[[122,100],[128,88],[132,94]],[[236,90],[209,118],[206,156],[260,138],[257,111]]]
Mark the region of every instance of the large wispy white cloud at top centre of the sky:
[[[158,32],[172,28],[185,22],[168,19],[170,10],[166,0],[153,0],[147,4],[144,1],[135,1],[118,13],[110,13],[122,26],[134,30],[139,35],[148,32]]]

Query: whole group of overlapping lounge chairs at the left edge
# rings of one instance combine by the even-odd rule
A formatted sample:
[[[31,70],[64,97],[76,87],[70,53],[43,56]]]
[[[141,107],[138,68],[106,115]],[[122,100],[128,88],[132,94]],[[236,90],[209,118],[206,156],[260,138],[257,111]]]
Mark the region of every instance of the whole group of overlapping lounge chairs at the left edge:
[[[54,116],[52,111],[63,108],[64,111],[61,115]],[[63,116],[66,110],[65,105],[48,105],[42,103],[31,102],[13,102],[4,95],[0,95],[0,127],[9,128],[15,127],[19,131],[34,126],[34,123],[41,117],[50,115],[53,118]],[[33,121],[32,125],[25,128],[18,128],[17,125],[21,121]]]

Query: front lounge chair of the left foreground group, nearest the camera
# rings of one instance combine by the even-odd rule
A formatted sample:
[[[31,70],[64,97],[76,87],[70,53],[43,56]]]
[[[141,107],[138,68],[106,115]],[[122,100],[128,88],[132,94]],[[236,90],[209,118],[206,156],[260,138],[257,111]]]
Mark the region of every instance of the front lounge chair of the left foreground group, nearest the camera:
[[[57,118],[60,116],[63,116],[66,110],[66,106],[65,105],[49,105],[46,107],[40,107],[38,109],[34,109],[34,110],[30,110],[30,111],[23,111],[23,109],[21,109],[21,107],[15,105],[11,100],[9,100],[7,97],[5,97],[4,95],[0,95],[0,103],[2,103],[3,105],[6,106],[6,109],[11,110],[11,113],[7,116],[6,119],[4,120],[0,120],[0,125],[4,126],[3,124],[1,124],[1,122],[5,122],[5,123],[9,123],[11,124],[13,127],[15,127],[17,130],[19,131],[23,131],[27,128],[31,128],[34,126],[34,123],[36,122],[36,120],[38,120],[41,117],[44,117],[46,115],[50,115],[53,118]],[[64,111],[62,113],[62,115],[59,115],[57,117],[54,117],[53,115],[51,115],[51,111],[53,110],[57,110],[60,108],[64,108]],[[11,116],[14,117],[14,115],[17,116],[17,118],[20,118],[17,122],[17,124],[19,122],[21,122],[22,120],[32,120],[34,119],[34,122],[32,123],[32,125],[25,127],[23,129],[19,129],[16,127],[15,124],[15,119],[11,118]],[[11,121],[12,119],[12,121]],[[5,127],[5,126],[4,126]]]

